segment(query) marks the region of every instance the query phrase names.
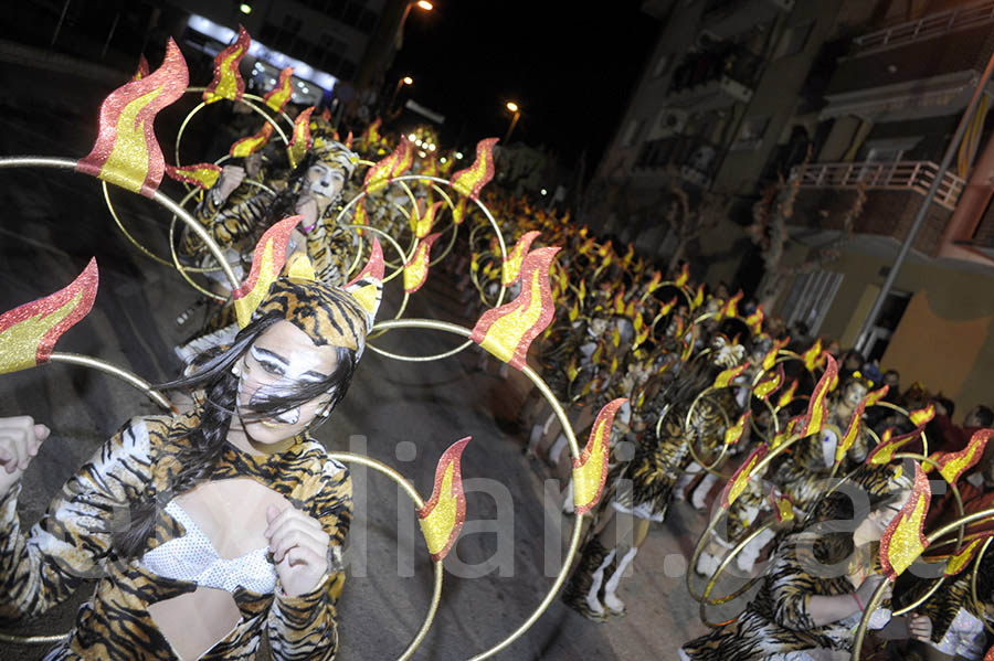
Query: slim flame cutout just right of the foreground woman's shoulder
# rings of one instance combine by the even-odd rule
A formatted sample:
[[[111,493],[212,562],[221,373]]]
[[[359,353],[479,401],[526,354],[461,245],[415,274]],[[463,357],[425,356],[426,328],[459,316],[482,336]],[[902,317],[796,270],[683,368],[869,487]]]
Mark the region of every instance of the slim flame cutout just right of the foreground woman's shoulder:
[[[452,545],[463,530],[466,520],[466,494],[463,492],[463,473],[459,462],[463,449],[472,437],[452,444],[438,459],[435,468],[435,487],[432,497],[417,510],[421,532],[427,543],[432,561],[448,555]]]

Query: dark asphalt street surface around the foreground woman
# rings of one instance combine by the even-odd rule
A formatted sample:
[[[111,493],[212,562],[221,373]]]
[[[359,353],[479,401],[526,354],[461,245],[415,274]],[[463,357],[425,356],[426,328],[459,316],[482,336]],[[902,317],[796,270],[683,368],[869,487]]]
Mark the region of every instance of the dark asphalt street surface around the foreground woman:
[[[0,89],[0,154],[80,158],[95,139],[99,100],[110,88],[4,64]],[[178,117],[179,108],[163,113],[157,132],[175,131]],[[210,139],[205,131],[191,134],[194,147]],[[171,154],[171,140],[161,141]],[[170,156],[167,162],[172,162]],[[163,190],[181,194],[172,182],[165,182]],[[168,214],[124,191],[110,195],[136,238],[166,255]],[[171,267],[125,239],[107,212],[99,182],[64,171],[2,170],[0,200],[0,311],[65,286],[95,256],[101,286],[94,309],[56,350],[108,360],[151,382],[173,377],[180,363],[172,347],[190,332],[176,318],[198,295]],[[399,281],[387,286],[381,318],[395,311],[399,290]],[[434,273],[405,317],[472,327],[474,320],[464,318],[463,310],[451,280]],[[457,342],[406,330],[374,341],[414,355]],[[442,451],[473,437],[462,462],[466,527],[445,561],[442,605],[415,659],[467,659],[518,628],[551,586],[549,567],[558,569],[556,556],[573,522],[554,510],[554,502],[547,513],[547,475],[521,454],[526,427],[517,416],[527,385],[517,374],[501,379],[493,361],[488,370],[478,370],[478,351],[472,347],[430,363],[367,352],[347,398],[317,434],[329,449],[362,451],[396,468],[424,498]],[[0,416],[27,414],[53,429],[23,480],[22,522],[36,521],[64,480],[127,418],[152,413],[157,407],[138,391],[81,367],[49,364],[0,376]],[[425,616],[432,568],[410,501],[387,478],[361,468],[353,468],[353,480],[356,519],[340,601],[338,658],[392,659]],[[665,524],[654,525],[635,561],[635,575],[622,584],[627,617],[592,623],[556,600],[497,658],[676,659],[683,641],[706,631],[684,583],[685,558],[702,526],[704,516],[685,503],[675,505]],[[84,587],[19,632],[67,630],[86,591]],[[43,652],[44,647],[0,643],[0,659],[39,659]]]

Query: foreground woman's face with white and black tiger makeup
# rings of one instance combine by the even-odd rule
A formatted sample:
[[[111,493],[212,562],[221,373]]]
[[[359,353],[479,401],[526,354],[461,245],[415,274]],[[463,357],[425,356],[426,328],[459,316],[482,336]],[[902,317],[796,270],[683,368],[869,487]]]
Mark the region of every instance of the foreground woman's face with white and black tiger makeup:
[[[289,321],[278,321],[255,340],[236,363],[239,413],[247,436],[260,444],[293,438],[325,413],[330,394],[318,395],[289,411],[260,419],[250,405],[273,396],[288,396],[302,385],[327,382],[338,365],[335,347],[316,345]]]

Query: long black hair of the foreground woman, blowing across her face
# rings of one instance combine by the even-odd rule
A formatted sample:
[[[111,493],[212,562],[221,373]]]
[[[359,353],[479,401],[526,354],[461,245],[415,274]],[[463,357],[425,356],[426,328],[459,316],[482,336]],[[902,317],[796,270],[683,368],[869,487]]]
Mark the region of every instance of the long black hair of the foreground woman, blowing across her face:
[[[116,531],[114,535],[114,546],[119,556],[131,558],[139,555],[152,535],[159,507],[165,507],[175,497],[211,478],[213,468],[224,451],[233,415],[239,415],[242,422],[261,419],[290,411],[328,393],[331,394],[331,399],[326,411],[330,412],[345,397],[356,369],[356,352],[337,347],[338,364],[328,379],[298,382],[290,392],[269,395],[244,406],[247,414],[239,412],[239,377],[232,373],[232,366],[266,329],[282,320],[283,317],[275,311],[253,320],[235,337],[231,347],[198,356],[192,374],[157,386],[162,390],[202,391],[202,397],[194,398],[199,401],[197,406],[200,419],[192,429],[179,428],[175,433],[176,437],[170,439],[188,440],[180,444],[176,455],[181,468],[172,478],[171,484],[163,491],[149,490],[144,499],[129,503],[129,525]]]

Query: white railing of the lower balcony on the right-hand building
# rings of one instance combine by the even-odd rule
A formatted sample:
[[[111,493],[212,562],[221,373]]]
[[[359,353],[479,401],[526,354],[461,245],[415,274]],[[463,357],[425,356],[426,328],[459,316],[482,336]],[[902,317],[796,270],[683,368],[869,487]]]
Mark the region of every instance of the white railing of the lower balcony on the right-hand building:
[[[810,163],[791,170],[791,179],[801,188],[855,189],[861,181],[867,189],[914,191],[922,195],[935,180],[939,166],[932,161],[893,161],[890,163]],[[947,171],[935,192],[935,203],[952,210],[966,182]]]

